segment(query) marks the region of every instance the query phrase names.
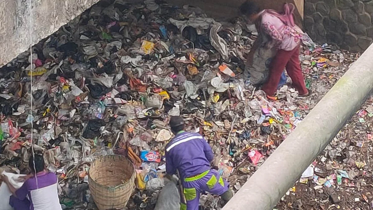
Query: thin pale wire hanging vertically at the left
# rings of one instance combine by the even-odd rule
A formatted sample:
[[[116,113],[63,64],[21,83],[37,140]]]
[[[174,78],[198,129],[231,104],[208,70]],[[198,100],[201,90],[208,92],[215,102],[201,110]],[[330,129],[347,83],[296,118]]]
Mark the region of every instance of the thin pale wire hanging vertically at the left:
[[[36,176],[36,166],[35,166],[35,150],[34,150],[34,115],[32,114],[32,0],[30,0],[30,58],[31,58],[31,64],[30,64],[30,102],[31,102],[31,149],[32,149],[32,159],[34,161],[34,172],[35,172],[35,180],[36,180],[36,188],[39,189],[38,184],[38,177]]]

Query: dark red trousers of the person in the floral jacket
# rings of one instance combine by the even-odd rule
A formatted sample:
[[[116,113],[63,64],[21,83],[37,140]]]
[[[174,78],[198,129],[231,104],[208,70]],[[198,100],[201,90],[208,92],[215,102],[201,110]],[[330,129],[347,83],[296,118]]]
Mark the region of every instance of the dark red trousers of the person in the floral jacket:
[[[273,96],[280,82],[280,77],[283,69],[286,67],[286,72],[293,81],[293,86],[298,90],[300,95],[307,94],[305,87],[304,77],[302,74],[301,64],[299,61],[299,50],[300,46],[294,48],[294,50],[278,50],[276,56],[271,62],[269,70],[269,79],[263,84],[261,88],[269,96]]]

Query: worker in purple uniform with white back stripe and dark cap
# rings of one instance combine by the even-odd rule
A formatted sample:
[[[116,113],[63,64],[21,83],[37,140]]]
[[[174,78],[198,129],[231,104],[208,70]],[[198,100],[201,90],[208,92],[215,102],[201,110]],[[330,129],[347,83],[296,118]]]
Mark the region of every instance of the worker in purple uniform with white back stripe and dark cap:
[[[233,192],[229,183],[211,169],[214,154],[210,145],[200,134],[185,132],[181,117],[171,117],[170,127],[175,137],[166,145],[166,172],[179,172],[186,201],[181,198],[180,209],[198,210],[202,191],[220,195],[228,202]]]

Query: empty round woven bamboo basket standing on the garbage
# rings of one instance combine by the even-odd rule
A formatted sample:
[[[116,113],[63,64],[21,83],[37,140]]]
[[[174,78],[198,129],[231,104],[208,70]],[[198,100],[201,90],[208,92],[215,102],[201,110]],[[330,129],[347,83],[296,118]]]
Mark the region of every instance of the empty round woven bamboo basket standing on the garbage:
[[[99,210],[122,209],[135,186],[135,169],[120,155],[105,155],[93,162],[88,174],[91,195]]]

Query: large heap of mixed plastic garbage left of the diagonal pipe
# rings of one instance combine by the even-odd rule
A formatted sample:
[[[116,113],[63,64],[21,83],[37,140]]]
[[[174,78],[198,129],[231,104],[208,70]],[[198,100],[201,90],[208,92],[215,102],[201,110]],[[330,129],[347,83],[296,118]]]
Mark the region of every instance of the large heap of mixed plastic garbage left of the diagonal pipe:
[[[182,115],[239,190],[358,56],[308,38],[301,60],[314,94],[298,98],[288,79],[271,100],[243,74],[256,37],[239,18],[217,22],[190,6],[94,5],[0,69],[0,166],[27,173],[33,144],[59,176],[63,208],[95,209],[90,163],[126,155],[137,172],[128,208],[153,209],[169,117]],[[201,205],[221,207],[209,194]]]

